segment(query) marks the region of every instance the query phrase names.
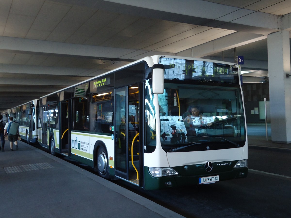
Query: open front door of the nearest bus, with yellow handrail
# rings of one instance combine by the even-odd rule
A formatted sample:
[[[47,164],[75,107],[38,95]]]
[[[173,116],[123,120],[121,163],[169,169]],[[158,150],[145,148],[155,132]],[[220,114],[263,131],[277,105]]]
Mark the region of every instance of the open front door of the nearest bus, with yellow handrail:
[[[135,84],[116,89],[114,95],[115,174],[137,185],[141,168],[138,90]]]

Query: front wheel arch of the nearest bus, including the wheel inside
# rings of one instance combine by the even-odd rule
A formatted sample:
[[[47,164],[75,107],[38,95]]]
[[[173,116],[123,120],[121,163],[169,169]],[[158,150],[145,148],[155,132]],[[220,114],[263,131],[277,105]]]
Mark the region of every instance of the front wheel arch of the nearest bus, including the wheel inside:
[[[104,142],[97,141],[94,146],[94,171],[97,171],[99,176],[109,179],[108,170],[108,153]]]

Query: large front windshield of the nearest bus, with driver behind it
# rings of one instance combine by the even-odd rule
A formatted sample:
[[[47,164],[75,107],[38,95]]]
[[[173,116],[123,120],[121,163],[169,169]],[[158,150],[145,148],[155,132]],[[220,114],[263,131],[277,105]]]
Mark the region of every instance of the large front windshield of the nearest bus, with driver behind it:
[[[164,94],[158,95],[164,151],[199,151],[214,143],[215,149],[244,146],[239,85],[165,83],[164,87]]]

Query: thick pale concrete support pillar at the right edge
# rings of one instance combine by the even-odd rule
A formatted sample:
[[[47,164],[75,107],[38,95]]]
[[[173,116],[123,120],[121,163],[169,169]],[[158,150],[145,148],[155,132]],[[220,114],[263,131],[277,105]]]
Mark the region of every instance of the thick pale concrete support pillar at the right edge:
[[[289,31],[268,35],[272,141],[291,143],[291,77]]]

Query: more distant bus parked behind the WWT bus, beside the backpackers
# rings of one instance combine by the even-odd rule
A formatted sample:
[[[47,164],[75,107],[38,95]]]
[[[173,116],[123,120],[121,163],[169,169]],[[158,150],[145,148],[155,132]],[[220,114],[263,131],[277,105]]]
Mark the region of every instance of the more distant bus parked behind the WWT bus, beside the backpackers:
[[[8,113],[19,122],[19,135],[29,144],[38,142],[38,104],[39,100],[34,99],[10,109]]]

